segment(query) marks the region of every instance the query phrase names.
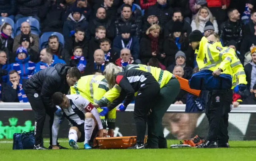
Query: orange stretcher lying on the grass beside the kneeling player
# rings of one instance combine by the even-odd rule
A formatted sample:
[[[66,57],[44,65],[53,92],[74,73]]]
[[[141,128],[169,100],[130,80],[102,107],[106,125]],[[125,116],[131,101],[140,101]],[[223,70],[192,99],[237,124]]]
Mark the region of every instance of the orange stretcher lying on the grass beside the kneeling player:
[[[147,136],[144,138],[146,143]],[[123,137],[96,137],[94,139],[94,148],[99,149],[126,149],[136,143],[136,136]]]

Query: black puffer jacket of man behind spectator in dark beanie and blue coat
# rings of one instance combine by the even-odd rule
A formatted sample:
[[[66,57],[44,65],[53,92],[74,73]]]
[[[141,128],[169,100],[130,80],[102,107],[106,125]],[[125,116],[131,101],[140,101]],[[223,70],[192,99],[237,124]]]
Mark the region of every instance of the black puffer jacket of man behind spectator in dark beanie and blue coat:
[[[136,36],[138,39],[140,39],[141,25],[142,25],[142,22],[140,19],[135,19],[133,16],[131,16],[128,20],[124,20],[124,18],[121,15],[115,21],[116,36],[121,35],[120,29],[124,25],[130,26],[131,36]]]

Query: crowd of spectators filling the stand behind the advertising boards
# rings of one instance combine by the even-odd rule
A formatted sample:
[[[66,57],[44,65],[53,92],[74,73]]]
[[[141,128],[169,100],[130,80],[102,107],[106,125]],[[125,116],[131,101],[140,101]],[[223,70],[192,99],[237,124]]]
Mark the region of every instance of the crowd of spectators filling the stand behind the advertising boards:
[[[112,62],[190,79],[198,67],[188,35],[198,29],[218,33],[244,65],[248,88],[234,88],[233,105],[256,104],[255,0],[0,0],[0,13],[1,102],[28,102],[25,82],[56,63],[82,76],[102,75]],[[206,97],[181,90],[173,104],[202,111]]]

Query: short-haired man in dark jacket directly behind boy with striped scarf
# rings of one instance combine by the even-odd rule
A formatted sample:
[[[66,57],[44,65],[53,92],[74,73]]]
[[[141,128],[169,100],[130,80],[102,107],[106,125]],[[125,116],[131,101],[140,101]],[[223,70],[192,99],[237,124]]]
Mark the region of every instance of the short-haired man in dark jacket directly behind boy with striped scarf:
[[[76,28],[75,34],[72,37],[68,37],[65,41],[65,49],[68,53],[74,53],[74,48],[76,46],[82,47],[83,56],[88,59],[88,41],[85,39],[85,33],[82,28]]]

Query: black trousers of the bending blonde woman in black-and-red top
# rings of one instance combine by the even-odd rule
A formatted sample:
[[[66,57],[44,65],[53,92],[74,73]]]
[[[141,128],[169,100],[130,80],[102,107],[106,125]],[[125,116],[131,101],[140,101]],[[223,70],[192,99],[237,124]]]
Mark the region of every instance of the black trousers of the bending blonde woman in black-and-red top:
[[[157,96],[160,92],[158,82],[150,82],[145,86],[140,87],[138,94],[135,98],[134,104],[134,120],[137,130],[137,143],[144,143],[144,137],[146,133],[147,114],[150,109],[154,108],[154,104],[157,101]],[[151,118],[152,122],[156,122],[156,118]],[[152,127],[156,128],[156,127]]]

